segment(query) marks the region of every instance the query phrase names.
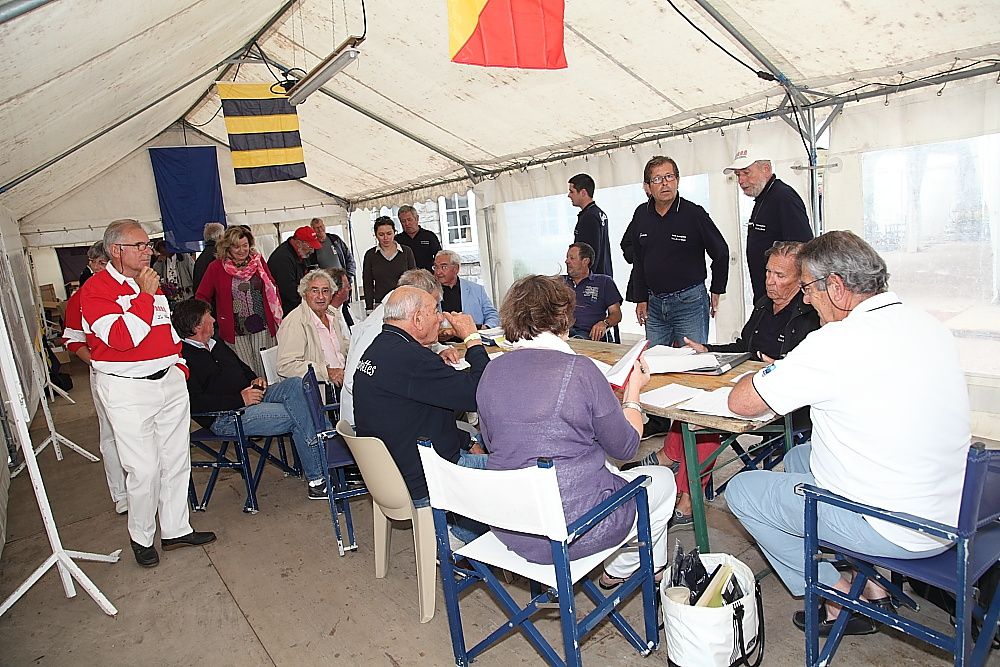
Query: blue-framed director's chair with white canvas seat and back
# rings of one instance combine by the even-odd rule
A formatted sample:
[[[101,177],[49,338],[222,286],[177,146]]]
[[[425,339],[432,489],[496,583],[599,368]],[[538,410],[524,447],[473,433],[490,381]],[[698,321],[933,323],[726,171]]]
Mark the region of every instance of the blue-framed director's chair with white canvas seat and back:
[[[648,655],[657,647],[657,598],[646,500],[648,477],[642,476],[630,482],[567,525],[556,470],[551,460],[539,459],[537,467],[521,470],[474,470],[442,459],[428,440],[420,440],[417,444],[434,510],[438,561],[441,564],[456,665],[467,665],[490,646],[519,629],[548,664],[579,666],[580,642],[605,618],[640,654]],[[632,498],[636,499],[638,514],[638,544],[615,545],[571,561],[569,546]],[[489,526],[547,537],[554,563],[541,565],[529,562],[510,551],[492,532],[453,552],[446,519],[449,511]],[[639,569],[613,593],[605,595],[588,575],[622,547],[638,548]],[[458,565],[463,558],[470,564],[468,567]],[[525,606],[518,606],[490,570],[491,566],[515,572],[531,582],[531,599]],[[478,644],[467,648],[459,597],[465,589],[479,582],[487,586],[509,619]],[[595,609],[579,621],[573,598],[573,588],[577,584],[595,605]],[[618,607],[636,591],[642,592],[645,637],[640,636],[618,611]],[[552,603],[559,606],[565,661],[533,623],[533,619]]]

